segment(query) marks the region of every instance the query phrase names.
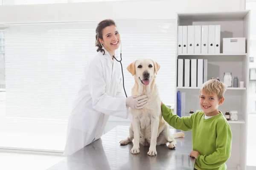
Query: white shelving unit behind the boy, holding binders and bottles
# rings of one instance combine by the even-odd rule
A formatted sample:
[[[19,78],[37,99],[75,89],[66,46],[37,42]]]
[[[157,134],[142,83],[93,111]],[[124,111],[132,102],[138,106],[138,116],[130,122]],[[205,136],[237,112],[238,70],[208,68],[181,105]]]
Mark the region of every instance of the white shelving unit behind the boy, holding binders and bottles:
[[[250,50],[248,44],[250,44],[250,11],[177,13],[177,27],[189,25],[221,25],[221,53],[177,54],[176,46],[176,74],[177,59],[207,59],[207,79],[211,79],[211,77],[219,77],[220,81],[223,81],[224,72],[232,72],[233,78],[234,76],[237,76],[239,82],[244,81],[244,88],[227,88],[224,96],[225,101],[222,105],[220,105],[219,110],[222,113],[232,110],[236,110],[239,113],[238,121],[229,121],[233,134],[233,142],[231,156],[227,161],[227,167],[228,170],[245,170],[247,155],[247,87],[249,85],[248,53]],[[222,53],[222,39],[232,37],[246,37],[246,53]],[[201,110],[199,104],[199,89],[200,87],[177,87],[176,92],[185,92],[185,113],[189,113],[190,110]],[[176,105],[177,97],[175,100],[175,106]]]

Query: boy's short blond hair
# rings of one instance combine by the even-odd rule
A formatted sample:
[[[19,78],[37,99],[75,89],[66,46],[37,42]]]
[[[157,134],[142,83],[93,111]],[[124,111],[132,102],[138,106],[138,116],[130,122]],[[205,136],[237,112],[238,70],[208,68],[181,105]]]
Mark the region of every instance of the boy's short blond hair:
[[[202,88],[200,89],[200,95],[203,89],[207,94],[217,94],[218,99],[221,99],[224,97],[227,86],[217,79],[209,79],[207,82],[204,82]]]

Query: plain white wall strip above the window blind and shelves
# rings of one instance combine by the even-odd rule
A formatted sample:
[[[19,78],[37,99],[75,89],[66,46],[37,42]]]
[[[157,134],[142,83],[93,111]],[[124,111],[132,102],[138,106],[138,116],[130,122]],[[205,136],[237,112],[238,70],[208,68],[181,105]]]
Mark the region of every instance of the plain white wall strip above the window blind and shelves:
[[[236,11],[245,0],[144,0],[0,6],[0,23],[175,19],[176,12]]]

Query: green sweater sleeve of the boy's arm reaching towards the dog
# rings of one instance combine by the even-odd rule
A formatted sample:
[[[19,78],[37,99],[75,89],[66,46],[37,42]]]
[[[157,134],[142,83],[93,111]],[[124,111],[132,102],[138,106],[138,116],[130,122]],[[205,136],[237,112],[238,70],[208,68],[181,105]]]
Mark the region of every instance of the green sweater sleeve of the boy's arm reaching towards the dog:
[[[165,119],[169,125],[178,130],[192,130],[194,114],[192,114],[192,116],[183,116],[180,118],[178,115],[173,114],[172,109],[164,104],[161,106],[161,109],[163,119]]]

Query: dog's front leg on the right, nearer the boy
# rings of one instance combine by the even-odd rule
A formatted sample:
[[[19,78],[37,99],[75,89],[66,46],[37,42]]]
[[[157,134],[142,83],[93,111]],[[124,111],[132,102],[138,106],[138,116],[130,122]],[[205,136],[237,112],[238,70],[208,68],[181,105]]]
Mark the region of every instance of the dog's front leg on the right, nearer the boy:
[[[148,151],[149,156],[157,155],[157,131],[158,131],[159,119],[156,117],[151,117],[151,140],[150,147]]]

